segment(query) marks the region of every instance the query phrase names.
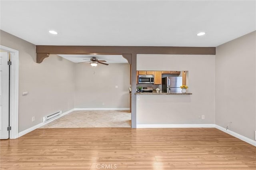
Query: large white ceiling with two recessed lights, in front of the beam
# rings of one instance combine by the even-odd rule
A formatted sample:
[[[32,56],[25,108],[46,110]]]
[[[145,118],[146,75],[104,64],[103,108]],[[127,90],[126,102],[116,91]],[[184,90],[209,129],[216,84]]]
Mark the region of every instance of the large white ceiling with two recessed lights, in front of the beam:
[[[0,29],[36,45],[215,47],[256,30],[255,7],[255,0],[1,0]]]

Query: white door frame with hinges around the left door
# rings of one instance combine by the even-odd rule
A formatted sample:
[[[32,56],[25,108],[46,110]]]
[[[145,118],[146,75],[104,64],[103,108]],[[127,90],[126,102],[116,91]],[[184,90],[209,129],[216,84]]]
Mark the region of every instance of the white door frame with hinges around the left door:
[[[19,51],[0,45],[0,49],[10,53],[10,139],[18,138],[19,121]]]

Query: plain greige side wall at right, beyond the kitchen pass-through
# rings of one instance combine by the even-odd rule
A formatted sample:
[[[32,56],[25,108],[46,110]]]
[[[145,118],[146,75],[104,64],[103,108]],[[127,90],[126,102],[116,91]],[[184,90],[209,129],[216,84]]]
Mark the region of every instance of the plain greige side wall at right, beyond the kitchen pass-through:
[[[254,140],[256,32],[216,47],[216,124]]]

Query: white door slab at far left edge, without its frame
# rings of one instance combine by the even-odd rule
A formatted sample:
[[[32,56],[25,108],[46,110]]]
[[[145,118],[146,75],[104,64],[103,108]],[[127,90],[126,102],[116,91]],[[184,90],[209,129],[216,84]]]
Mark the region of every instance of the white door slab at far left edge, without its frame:
[[[0,139],[8,139],[9,131],[9,65],[7,52],[0,52]]]

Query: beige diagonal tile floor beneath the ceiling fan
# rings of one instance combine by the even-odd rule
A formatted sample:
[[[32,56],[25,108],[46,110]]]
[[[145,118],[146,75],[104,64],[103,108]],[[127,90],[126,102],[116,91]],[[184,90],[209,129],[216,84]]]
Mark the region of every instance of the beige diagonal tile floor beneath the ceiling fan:
[[[129,111],[74,111],[41,128],[131,127]]]

